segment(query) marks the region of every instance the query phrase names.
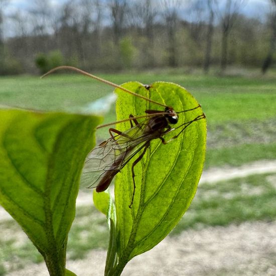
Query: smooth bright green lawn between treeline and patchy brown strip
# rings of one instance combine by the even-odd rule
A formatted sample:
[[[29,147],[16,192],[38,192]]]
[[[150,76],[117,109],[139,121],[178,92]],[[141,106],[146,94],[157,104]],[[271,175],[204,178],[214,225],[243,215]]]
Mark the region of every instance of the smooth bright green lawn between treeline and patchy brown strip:
[[[276,116],[276,78],[207,77],[181,73],[99,76],[117,84],[127,81],[178,83],[198,99],[211,124]],[[37,76],[1,77],[0,81],[0,103],[45,110],[75,111],[113,90],[106,84],[76,74],[52,75],[42,80]]]

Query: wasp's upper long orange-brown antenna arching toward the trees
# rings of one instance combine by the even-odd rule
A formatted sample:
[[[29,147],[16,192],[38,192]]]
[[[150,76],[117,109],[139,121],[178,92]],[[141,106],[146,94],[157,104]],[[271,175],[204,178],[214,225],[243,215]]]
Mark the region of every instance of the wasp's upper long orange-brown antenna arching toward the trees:
[[[130,91],[130,90],[128,90],[128,89],[126,89],[126,88],[124,88],[124,87],[118,85],[118,84],[115,84],[115,83],[113,83],[113,82],[110,82],[110,81],[105,80],[105,79],[102,79],[102,78],[99,78],[99,77],[97,77],[97,76],[94,76],[94,75],[92,75],[92,74],[89,74],[89,73],[87,73],[87,72],[85,72],[85,71],[83,71],[83,70],[81,70],[81,69],[78,69],[78,68],[76,68],[76,67],[73,67],[73,66],[65,66],[65,65],[64,65],[64,66],[59,66],[59,67],[53,68],[52,70],[48,71],[48,72],[45,73],[43,76],[41,76],[41,78],[44,78],[44,77],[48,76],[49,74],[51,74],[51,73],[53,73],[53,72],[55,72],[55,71],[61,70],[61,69],[69,69],[69,70],[72,70],[72,71],[76,71],[76,72],[78,72],[78,73],[80,73],[80,74],[82,74],[82,75],[88,76],[88,77],[90,77],[90,78],[92,78],[92,79],[96,79],[96,80],[99,80],[99,81],[101,81],[101,82],[103,82],[103,83],[106,83],[106,84],[108,84],[108,85],[110,85],[110,86],[113,86],[113,87],[115,87],[115,88],[119,88],[119,89],[121,89],[121,90],[123,90],[123,91],[125,91],[125,92],[127,92],[127,93],[129,93],[129,94],[131,94],[131,95],[133,95],[133,96],[140,97],[140,98],[142,98],[142,99],[144,99],[144,100],[147,100],[147,101],[149,101],[149,102],[156,103],[156,104],[159,104],[159,105],[161,105],[161,106],[167,107],[167,105],[165,105],[165,104],[163,104],[163,103],[160,103],[160,102],[155,101],[155,100],[151,100],[151,99],[149,99],[149,98],[147,98],[147,97],[144,97],[144,96],[142,96],[142,95],[140,95],[140,94],[137,94],[137,93],[135,93],[135,92],[132,92],[132,91]]]

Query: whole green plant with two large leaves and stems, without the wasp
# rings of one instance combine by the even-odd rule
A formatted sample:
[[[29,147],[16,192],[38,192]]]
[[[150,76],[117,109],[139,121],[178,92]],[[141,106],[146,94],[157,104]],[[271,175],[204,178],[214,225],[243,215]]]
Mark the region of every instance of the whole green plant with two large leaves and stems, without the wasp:
[[[198,105],[184,88],[173,83],[156,82],[151,89],[138,82],[123,86],[177,111]],[[118,119],[154,109],[154,104],[144,99],[118,89],[116,92]],[[180,113],[179,123],[201,112],[198,108]],[[67,236],[74,219],[81,169],[94,146],[93,130],[99,119],[22,110],[0,110],[0,117],[0,204],[43,255],[50,275],[74,275],[65,268]],[[129,122],[120,126],[122,131],[128,128]],[[166,140],[175,131],[167,134]],[[178,223],[195,195],[205,144],[203,119],[192,123],[168,145],[152,141],[135,167],[131,209],[130,163],[115,181],[115,203],[108,193],[94,193],[94,203],[107,216],[110,227],[105,275],[119,275],[131,258],[154,247]]]

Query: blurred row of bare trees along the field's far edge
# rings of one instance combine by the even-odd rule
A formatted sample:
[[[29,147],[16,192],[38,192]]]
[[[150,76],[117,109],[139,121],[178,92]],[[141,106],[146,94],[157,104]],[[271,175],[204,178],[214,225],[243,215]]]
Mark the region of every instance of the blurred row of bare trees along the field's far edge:
[[[276,0],[262,20],[241,13],[246,0],[35,0],[5,17],[0,0],[0,74],[157,67],[273,66]],[[189,3],[189,6],[185,3]],[[5,5],[6,4],[6,5]],[[263,20],[265,19],[265,20]],[[11,37],[4,39],[3,28]]]

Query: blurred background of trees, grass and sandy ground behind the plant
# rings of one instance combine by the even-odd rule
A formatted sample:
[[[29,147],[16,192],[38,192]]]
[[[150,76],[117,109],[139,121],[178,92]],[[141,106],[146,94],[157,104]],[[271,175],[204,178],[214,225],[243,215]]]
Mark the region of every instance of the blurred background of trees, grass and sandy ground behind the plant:
[[[116,84],[178,83],[207,117],[191,207],[123,275],[276,274],[276,0],[0,0],[0,104],[104,106],[115,121],[112,87],[64,71],[39,78],[60,65]],[[82,187],[69,235],[68,268],[79,275],[104,270],[108,229],[91,200]],[[3,209],[0,233],[0,275],[47,275]]]

